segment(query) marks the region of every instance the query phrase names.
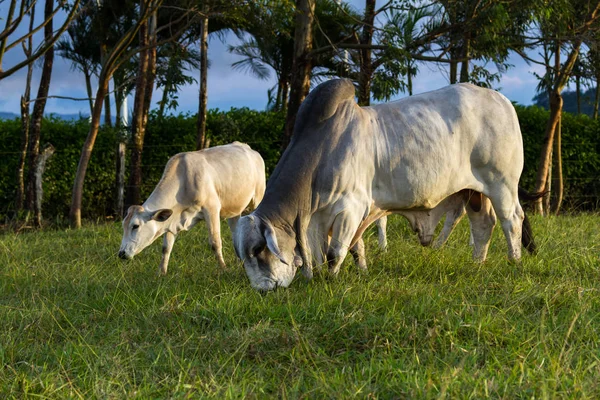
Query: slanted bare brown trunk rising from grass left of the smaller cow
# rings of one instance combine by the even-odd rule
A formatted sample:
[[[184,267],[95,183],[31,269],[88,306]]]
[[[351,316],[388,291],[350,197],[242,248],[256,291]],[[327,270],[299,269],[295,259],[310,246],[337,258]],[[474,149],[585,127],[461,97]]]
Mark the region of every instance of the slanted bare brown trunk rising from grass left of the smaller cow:
[[[108,92],[108,80],[109,77],[106,77],[103,73],[100,74],[100,79],[98,80],[98,91],[96,92],[96,99],[94,100],[94,112],[92,113],[90,131],[88,132],[88,136],[83,144],[81,157],[79,158],[79,164],[77,165],[77,173],[75,174],[75,181],[73,182],[71,210],[69,212],[69,219],[71,221],[71,227],[73,228],[81,228],[83,182],[85,181],[85,173],[87,171],[90,158],[92,157],[92,150],[94,149],[96,136],[98,136],[98,129],[100,128],[104,96],[106,96],[106,93]]]

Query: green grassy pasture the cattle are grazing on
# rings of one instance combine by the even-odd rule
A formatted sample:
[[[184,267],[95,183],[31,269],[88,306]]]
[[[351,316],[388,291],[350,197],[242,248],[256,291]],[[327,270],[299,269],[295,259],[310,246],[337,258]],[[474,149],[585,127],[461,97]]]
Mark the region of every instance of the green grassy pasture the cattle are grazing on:
[[[600,398],[600,216],[533,218],[537,256],[496,227],[471,262],[395,218],[368,274],[300,274],[261,295],[198,226],[116,257],[118,225],[0,236],[3,398]],[[224,229],[225,232],[227,232]]]

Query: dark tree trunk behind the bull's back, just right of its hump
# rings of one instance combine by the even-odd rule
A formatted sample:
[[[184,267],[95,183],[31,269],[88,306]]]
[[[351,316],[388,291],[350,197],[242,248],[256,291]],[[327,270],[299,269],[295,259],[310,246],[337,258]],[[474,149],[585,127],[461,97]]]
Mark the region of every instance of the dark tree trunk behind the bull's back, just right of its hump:
[[[375,0],[367,0],[365,4],[365,17],[360,43],[367,47],[360,50],[360,74],[358,76],[358,104],[368,106],[371,104],[371,81],[373,79],[373,60],[371,48],[373,43],[373,23],[375,22]]]

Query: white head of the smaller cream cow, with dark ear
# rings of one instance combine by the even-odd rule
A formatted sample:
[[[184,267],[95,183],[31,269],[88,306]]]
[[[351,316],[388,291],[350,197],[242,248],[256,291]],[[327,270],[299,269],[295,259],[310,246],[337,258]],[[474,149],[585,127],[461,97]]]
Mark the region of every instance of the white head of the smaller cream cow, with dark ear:
[[[148,247],[165,230],[164,224],[173,214],[172,210],[147,211],[142,206],[131,206],[123,220],[123,240],[119,257],[133,258]]]

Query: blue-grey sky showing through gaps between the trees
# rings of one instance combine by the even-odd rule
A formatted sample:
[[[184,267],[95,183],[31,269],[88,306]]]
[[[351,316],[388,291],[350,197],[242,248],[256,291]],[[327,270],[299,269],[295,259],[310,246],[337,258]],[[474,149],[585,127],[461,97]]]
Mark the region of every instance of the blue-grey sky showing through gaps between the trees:
[[[43,2],[39,2],[43,6]],[[361,10],[363,1],[349,1],[357,10]],[[383,1],[378,1],[378,4]],[[3,17],[7,14],[7,2],[0,4],[0,25],[4,26]],[[43,15],[43,9],[38,6],[37,15]],[[27,23],[23,24],[27,25]],[[55,25],[55,28],[57,26]],[[24,29],[19,29],[11,38],[22,35]],[[36,35],[36,42],[41,40],[41,33]],[[271,71],[271,76],[267,80],[259,80],[252,75],[242,71],[236,71],[231,68],[231,64],[238,61],[240,57],[227,51],[229,44],[239,43],[234,35],[226,35],[225,42],[221,42],[216,37],[209,38],[209,60],[211,67],[208,71],[208,106],[209,108],[219,108],[228,110],[231,107],[250,107],[257,110],[263,110],[267,105],[267,90],[275,85],[275,74]],[[3,67],[7,68],[21,60],[22,50],[16,47],[5,54]],[[506,97],[520,104],[531,104],[535,95],[537,79],[532,72],[543,73],[539,65],[527,65],[518,55],[511,55],[509,63],[514,66],[510,68],[495,85]],[[39,84],[41,73],[41,62],[36,64],[34,71],[32,97],[35,96]],[[0,81],[0,111],[19,113],[19,99],[25,88],[26,68]],[[198,71],[191,71],[191,74],[198,80]],[[414,80],[414,93],[423,93],[430,90],[439,89],[449,84],[447,72],[432,63],[422,63],[419,65],[419,73]],[[94,87],[95,90],[95,87]],[[179,107],[175,113],[195,113],[198,109],[198,84],[185,86],[178,93]],[[54,70],[50,84],[50,95],[86,97],[85,80],[83,74],[73,70],[70,63],[61,57],[55,57]],[[161,98],[160,88],[155,90],[153,96],[153,108],[156,102]],[[400,94],[393,99],[406,96]],[[131,110],[131,97],[129,109]],[[46,113],[59,114],[89,114],[89,106],[86,101],[72,101],[61,99],[49,99],[46,104]]]

